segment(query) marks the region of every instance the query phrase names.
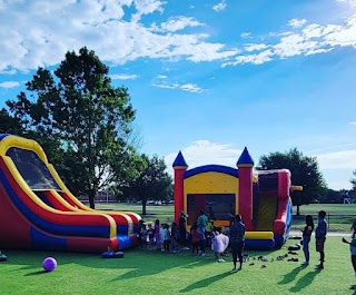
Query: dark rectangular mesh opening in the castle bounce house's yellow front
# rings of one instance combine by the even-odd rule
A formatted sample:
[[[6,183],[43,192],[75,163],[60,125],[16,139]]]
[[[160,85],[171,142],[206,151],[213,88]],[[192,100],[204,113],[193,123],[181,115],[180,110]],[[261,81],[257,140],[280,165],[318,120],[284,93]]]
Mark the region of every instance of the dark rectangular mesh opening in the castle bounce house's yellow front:
[[[209,219],[221,220],[228,224],[230,213],[235,214],[235,194],[188,194],[187,212],[188,225],[192,225],[199,217],[199,212],[205,210]]]

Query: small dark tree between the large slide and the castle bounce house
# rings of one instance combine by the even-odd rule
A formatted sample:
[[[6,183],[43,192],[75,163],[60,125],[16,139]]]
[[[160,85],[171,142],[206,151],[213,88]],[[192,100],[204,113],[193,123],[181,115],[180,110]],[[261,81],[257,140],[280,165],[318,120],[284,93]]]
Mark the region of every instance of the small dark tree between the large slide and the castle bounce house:
[[[167,166],[164,159],[157,155],[149,158],[141,155],[145,161],[145,168],[139,173],[138,178],[130,180],[122,188],[123,194],[142,203],[142,215],[146,215],[146,205],[148,199],[166,200],[172,196],[172,179],[166,171]]]

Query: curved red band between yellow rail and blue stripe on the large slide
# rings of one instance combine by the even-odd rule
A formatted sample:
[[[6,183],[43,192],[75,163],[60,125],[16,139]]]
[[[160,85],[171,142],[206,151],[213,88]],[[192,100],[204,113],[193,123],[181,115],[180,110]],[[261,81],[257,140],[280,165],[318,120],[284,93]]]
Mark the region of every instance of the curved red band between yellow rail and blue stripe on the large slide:
[[[98,225],[98,226],[109,226],[110,223],[108,217],[105,215],[86,215],[85,213],[68,213],[68,215],[60,214],[60,212],[53,213],[48,210],[44,206],[41,207],[36,204],[17,184],[16,179],[12,177],[8,167],[6,166],[2,158],[0,158],[0,168],[2,169],[4,176],[7,177],[9,184],[11,185],[14,193],[22,200],[22,203],[37,216],[43,218],[53,224],[61,225]]]

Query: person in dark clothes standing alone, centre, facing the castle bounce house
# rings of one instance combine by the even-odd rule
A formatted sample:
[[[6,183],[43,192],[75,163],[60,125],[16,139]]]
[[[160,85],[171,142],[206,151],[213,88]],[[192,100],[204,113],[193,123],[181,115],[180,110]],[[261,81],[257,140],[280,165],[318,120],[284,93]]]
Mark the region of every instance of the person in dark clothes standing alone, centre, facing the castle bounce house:
[[[240,263],[240,266],[237,271],[243,269],[243,252],[245,247],[245,232],[246,232],[246,227],[241,222],[241,216],[236,215],[230,226],[230,245],[231,245],[233,263],[234,263],[233,272],[236,272],[237,257]]]

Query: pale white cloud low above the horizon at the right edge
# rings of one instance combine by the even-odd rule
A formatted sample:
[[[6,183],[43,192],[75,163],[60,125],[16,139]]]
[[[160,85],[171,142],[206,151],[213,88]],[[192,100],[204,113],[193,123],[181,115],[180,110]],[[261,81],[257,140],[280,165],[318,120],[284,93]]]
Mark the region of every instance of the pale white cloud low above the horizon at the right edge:
[[[322,169],[355,169],[356,150],[342,150],[317,156]]]

